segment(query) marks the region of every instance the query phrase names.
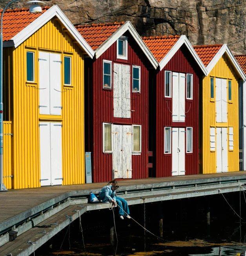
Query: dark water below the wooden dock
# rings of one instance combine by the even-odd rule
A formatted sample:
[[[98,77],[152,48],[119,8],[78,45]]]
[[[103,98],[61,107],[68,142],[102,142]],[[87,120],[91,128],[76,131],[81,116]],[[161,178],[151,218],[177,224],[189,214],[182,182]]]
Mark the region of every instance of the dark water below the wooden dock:
[[[239,194],[227,196],[233,209],[240,213]],[[202,199],[166,202],[163,236],[156,238],[132,219],[115,216],[116,235],[110,239],[112,211],[86,212],[82,216],[84,245],[79,221],[57,234],[35,252],[35,256],[51,255],[233,255],[246,256],[246,221],[241,220],[221,197],[211,197],[210,224],[206,220],[206,202]],[[159,236],[158,204],[146,205],[146,228]],[[130,207],[131,216],[144,225],[142,205]],[[246,202],[241,201],[241,217],[246,220]],[[114,225],[114,224],[113,224]],[[64,240],[64,241],[63,241]],[[164,241],[165,240],[165,241]],[[63,242],[63,243],[62,243]],[[62,247],[61,247],[62,245]],[[61,248],[60,248],[61,247]]]

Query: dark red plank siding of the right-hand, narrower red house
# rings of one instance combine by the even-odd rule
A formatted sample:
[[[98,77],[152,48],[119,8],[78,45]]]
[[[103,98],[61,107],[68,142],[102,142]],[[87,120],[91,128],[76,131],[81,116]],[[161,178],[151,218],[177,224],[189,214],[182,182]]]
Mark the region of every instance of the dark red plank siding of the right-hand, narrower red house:
[[[173,122],[172,98],[165,98],[165,70],[179,73],[193,74],[193,100],[186,99],[185,95],[185,122]],[[185,170],[186,175],[198,174],[199,172],[199,76],[201,75],[197,63],[189,53],[186,46],[182,46],[171,60],[166,64],[164,69],[157,72],[156,81],[156,147],[155,169],[156,177],[171,176],[172,155],[164,154],[164,127],[193,127],[193,153],[185,153]],[[169,109],[168,109],[169,108]],[[186,135],[185,135],[186,141]],[[186,152],[186,144],[185,144]]]

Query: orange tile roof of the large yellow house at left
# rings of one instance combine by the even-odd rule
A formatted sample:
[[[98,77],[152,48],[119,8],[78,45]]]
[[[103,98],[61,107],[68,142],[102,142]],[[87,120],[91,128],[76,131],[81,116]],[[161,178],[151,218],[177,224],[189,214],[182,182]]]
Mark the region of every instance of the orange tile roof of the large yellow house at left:
[[[42,8],[42,13],[50,7]],[[3,10],[0,10],[0,15]],[[36,20],[42,13],[29,13],[29,8],[7,9],[3,17],[3,40],[8,41],[22,29],[27,27],[31,22]]]

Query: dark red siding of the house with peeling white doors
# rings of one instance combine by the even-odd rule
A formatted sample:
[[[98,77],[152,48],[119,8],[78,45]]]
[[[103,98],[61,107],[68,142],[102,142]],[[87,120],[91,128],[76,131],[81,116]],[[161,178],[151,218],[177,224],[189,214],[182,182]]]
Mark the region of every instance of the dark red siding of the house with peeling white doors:
[[[113,124],[141,124],[142,125],[142,153],[132,155],[132,178],[142,179],[148,177],[148,80],[150,64],[135,40],[128,36],[128,60],[117,59],[117,42],[107,49],[97,60],[88,66],[88,88],[85,115],[89,134],[86,141],[86,150],[92,153],[93,182],[105,182],[112,179],[112,154],[104,154],[102,141],[102,123]],[[114,63],[137,65],[141,67],[141,93],[131,92],[131,118],[113,117],[113,88],[102,88],[103,60],[111,60]],[[131,74],[132,75],[132,74]],[[132,81],[132,77],[131,77]],[[85,122],[86,122],[85,121]],[[93,134],[92,134],[93,131]]]

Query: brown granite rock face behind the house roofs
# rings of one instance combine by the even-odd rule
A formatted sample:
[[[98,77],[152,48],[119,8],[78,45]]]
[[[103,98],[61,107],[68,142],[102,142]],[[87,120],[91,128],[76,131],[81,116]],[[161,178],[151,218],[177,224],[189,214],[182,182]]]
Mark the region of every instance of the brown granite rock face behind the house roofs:
[[[1,7],[9,2],[0,0]],[[25,1],[26,2],[26,1]],[[246,53],[246,0],[51,0],[73,24],[129,20],[141,36],[186,35]],[[23,7],[23,3],[13,5]]]

